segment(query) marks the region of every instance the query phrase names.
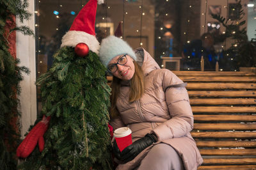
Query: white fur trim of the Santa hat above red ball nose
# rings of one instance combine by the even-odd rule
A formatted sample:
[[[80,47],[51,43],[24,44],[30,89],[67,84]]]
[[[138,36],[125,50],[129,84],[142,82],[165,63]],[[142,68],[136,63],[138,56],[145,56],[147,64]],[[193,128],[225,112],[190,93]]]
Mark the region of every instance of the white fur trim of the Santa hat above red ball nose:
[[[61,46],[76,47],[77,43],[86,43],[89,50],[99,54],[100,44],[97,38],[83,31],[68,31],[61,40]]]

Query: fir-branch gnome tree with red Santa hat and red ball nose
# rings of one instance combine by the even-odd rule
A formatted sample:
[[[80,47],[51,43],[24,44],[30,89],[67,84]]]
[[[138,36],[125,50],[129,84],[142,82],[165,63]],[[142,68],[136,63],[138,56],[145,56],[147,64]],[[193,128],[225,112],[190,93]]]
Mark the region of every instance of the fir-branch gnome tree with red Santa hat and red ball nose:
[[[41,118],[38,119],[29,132],[36,133],[28,134],[26,144],[20,144],[23,148],[19,146],[17,155],[26,159],[19,169],[112,168],[108,129],[110,88],[106,68],[97,55],[95,20],[88,21],[95,19],[96,9],[97,0],[84,6],[63,36],[52,67],[36,81],[42,91],[41,115],[51,116],[51,120],[43,118],[40,124],[37,122]],[[48,126],[45,134],[37,125],[44,130]],[[44,139],[38,137],[40,133]],[[31,149],[35,141],[38,145],[27,157],[24,148]]]

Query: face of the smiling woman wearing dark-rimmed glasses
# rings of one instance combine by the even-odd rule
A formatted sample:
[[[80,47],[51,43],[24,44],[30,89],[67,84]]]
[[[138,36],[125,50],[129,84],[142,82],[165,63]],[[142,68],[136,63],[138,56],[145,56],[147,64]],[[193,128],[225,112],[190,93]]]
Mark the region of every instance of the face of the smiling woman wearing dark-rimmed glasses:
[[[115,72],[112,72],[112,74],[118,79],[129,81],[132,79],[135,72],[133,59],[130,56],[128,56],[127,54],[116,56],[115,58],[111,59],[111,61],[109,61],[108,66],[116,64],[117,62],[122,63],[121,60],[125,59],[125,56],[127,58],[127,63],[125,63],[124,65],[117,64],[117,70]]]

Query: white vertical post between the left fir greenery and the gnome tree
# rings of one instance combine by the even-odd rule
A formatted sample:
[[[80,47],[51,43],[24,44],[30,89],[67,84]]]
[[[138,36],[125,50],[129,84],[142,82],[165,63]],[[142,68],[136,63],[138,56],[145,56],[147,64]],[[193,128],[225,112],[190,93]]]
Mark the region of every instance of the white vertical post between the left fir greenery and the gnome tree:
[[[29,12],[32,13],[30,20],[25,20],[24,23],[20,23],[17,19],[17,26],[29,26],[35,31],[35,8],[34,0],[29,0]],[[20,125],[21,135],[27,132],[29,126],[36,120],[36,61],[35,61],[35,37],[24,36],[22,33],[16,33],[16,46],[17,46],[17,58],[20,59],[20,66],[26,66],[29,68],[29,75],[24,74],[24,80],[20,82],[21,93],[20,99]]]

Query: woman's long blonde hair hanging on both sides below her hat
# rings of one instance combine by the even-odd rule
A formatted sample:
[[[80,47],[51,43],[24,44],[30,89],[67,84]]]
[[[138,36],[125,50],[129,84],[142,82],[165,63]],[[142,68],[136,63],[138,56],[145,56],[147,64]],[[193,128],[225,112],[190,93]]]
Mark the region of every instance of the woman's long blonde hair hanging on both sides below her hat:
[[[140,65],[136,61],[133,61],[135,72],[131,79],[131,86],[129,91],[129,102],[134,102],[135,100],[139,100],[144,93],[144,78],[143,78],[143,70]],[[113,76],[113,81],[111,83],[111,96],[110,96],[110,116],[111,118],[116,118],[119,115],[119,112],[116,108],[116,101],[118,98],[118,93],[120,92],[120,82],[122,80]]]

